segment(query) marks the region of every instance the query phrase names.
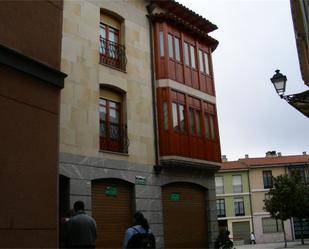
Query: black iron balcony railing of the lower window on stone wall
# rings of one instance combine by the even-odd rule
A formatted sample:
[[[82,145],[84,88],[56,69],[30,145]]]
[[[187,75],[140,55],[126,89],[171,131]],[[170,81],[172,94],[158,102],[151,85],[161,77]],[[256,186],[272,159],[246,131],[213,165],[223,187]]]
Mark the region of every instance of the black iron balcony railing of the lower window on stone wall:
[[[129,138],[127,126],[109,126],[105,129],[105,124],[100,124],[100,149],[113,152],[128,153]]]

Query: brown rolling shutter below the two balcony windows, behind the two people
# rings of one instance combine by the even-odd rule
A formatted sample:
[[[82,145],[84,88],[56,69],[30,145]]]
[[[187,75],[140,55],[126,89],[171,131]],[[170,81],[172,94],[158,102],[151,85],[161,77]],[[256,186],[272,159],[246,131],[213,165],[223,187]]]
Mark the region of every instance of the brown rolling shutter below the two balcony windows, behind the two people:
[[[121,248],[132,225],[132,185],[119,179],[92,182],[92,215],[97,223],[97,248]]]

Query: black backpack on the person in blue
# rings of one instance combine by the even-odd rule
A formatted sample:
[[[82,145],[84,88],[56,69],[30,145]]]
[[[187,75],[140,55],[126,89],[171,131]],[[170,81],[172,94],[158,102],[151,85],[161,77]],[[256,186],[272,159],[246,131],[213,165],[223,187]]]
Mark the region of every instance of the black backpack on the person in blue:
[[[127,248],[134,249],[155,249],[156,240],[152,233],[140,233],[136,228],[132,227],[136,234],[134,234],[128,241]]]

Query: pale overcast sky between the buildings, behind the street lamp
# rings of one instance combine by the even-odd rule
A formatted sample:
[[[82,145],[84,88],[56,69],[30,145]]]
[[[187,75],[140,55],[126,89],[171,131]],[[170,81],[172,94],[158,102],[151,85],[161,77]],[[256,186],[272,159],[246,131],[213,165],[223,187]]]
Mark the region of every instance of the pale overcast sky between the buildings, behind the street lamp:
[[[218,26],[213,53],[221,153],[228,160],[309,153],[309,119],[270,82],[287,76],[286,94],[308,90],[300,75],[288,0],[178,0]]]

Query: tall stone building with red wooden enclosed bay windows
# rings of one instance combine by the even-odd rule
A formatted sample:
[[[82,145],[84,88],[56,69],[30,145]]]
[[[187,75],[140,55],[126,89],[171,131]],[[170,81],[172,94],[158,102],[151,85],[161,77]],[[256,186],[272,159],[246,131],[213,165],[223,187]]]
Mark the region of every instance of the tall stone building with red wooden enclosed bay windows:
[[[158,248],[212,248],[216,26],[175,1],[65,1],[63,13],[60,214],[85,201],[101,248],[122,246],[137,210]]]

